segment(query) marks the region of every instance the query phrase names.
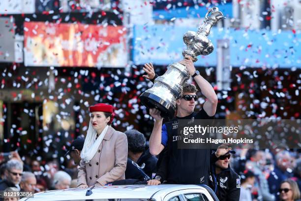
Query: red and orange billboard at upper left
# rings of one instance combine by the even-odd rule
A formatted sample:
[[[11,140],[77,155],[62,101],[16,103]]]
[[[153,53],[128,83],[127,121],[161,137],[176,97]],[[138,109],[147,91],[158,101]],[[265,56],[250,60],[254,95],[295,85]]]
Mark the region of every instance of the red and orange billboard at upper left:
[[[125,67],[123,26],[24,23],[25,66]]]

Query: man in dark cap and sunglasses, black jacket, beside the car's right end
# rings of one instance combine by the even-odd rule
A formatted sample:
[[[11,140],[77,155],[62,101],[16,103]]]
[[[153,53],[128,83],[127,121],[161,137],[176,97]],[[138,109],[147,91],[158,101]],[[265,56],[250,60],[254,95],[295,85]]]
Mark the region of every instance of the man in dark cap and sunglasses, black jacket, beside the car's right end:
[[[228,152],[221,153],[220,150],[217,151],[219,153],[211,155],[211,188],[219,201],[239,201],[241,179],[229,164],[231,154],[235,154],[235,151],[229,149]]]

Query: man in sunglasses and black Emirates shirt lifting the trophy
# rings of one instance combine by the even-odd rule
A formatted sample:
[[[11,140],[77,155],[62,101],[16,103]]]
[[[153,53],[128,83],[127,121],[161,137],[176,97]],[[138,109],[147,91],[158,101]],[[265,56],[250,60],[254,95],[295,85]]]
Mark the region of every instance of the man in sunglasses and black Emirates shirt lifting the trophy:
[[[154,127],[150,137],[150,152],[152,155],[158,155],[165,148],[159,157],[158,166],[161,162],[166,163],[166,179],[169,183],[179,184],[208,184],[210,171],[210,149],[178,149],[178,142],[173,140],[178,137],[178,120],[194,120],[194,119],[211,119],[215,114],[217,106],[217,96],[211,84],[204,79],[199,71],[194,67],[190,56],[179,63],[187,67],[191,77],[201,89],[202,94],[206,97],[203,108],[194,112],[197,100],[197,89],[195,85],[184,83],[183,95],[177,100],[177,116],[162,125],[162,117],[160,111],[155,108],[150,109],[151,116],[155,119]],[[153,79],[155,73],[151,64],[146,64],[143,68],[147,75],[147,79]],[[196,160],[198,159],[198,160]],[[192,173],[193,172],[193,173]],[[159,178],[158,175],[157,179]],[[159,181],[150,181],[149,184],[155,185]]]

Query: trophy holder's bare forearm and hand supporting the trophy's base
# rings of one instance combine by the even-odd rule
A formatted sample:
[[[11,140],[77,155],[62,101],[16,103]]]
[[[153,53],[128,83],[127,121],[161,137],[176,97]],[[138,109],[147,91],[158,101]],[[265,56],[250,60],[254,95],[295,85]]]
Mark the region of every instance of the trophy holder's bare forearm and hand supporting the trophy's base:
[[[155,119],[150,137],[150,153],[156,156],[164,149],[161,143],[163,118],[160,115],[160,111],[155,108],[150,109],[150,115]]]

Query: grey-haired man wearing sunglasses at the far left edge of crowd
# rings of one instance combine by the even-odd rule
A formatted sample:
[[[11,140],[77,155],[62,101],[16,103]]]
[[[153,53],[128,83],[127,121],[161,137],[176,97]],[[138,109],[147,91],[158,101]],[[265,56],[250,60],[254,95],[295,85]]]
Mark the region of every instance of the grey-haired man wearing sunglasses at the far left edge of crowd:
[[[0,191],[9,187],[15,187],[20,190],[20,181],[23,175],[23,164],[16,159],[9,160],[6,163],[5,179],[0,181]]]

